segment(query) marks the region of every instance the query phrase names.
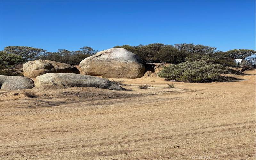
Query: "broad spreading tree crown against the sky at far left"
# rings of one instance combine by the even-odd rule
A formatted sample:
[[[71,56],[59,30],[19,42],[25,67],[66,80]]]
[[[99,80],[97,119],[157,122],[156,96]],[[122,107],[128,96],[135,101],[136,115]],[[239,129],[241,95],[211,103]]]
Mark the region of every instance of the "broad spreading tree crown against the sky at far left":
[[[36,56],[44,54],[46,50],[33,47],[24,46],[8,46],[4,48],[8,54],[19,55],[23,58],[24,62],[34,59]]]

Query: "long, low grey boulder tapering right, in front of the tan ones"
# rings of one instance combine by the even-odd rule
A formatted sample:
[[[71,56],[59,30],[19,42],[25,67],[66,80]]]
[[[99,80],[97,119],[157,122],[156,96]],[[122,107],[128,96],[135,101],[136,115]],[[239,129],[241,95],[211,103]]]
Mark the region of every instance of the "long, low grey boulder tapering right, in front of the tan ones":
[[[36,88],[60,89],[70,87],[96,87],[111,90],[124,90],[119,85],[103,78],[73,73],[46,73],[35,78]]]

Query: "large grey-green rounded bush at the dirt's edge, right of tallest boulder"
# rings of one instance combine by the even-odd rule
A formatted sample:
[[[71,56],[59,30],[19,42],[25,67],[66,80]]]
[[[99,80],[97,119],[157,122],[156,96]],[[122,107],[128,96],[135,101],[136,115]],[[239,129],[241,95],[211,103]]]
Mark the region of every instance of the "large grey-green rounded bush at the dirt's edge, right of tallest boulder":
[[[180,64],[171,64],[163,67],[158,76],[166,80],[183,82],[211,82],[219,79],[224,67],[220,64],[201,61],[185,61]]]

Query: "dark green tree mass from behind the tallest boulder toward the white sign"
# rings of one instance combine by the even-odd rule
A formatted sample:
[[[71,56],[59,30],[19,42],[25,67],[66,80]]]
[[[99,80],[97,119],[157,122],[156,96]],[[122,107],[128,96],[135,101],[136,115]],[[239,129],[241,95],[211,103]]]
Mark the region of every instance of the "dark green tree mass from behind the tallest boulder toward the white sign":
[[[115,46],[114,48],[125,48],[128,51],[138,55],[144,62],[148,63],[172,63],[178,64],[185,61],[185,57],[192,57],[198,55],[196,59],[208,55],[212,57],[211,60],[214,64],[222,64],[227,66],[234,66],[235,62],[229,57],[226,52],[218,51],[215,47],[196,45],[196,44],[175,44],[165,45],[161,43],[154,43],[148,45],[138,46]]]

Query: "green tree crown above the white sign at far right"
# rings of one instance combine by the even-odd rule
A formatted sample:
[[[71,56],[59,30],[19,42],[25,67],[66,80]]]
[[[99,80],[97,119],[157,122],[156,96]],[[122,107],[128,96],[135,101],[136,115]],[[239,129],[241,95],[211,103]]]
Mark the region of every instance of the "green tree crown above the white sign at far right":
[[[227,54],[232,59],[245,59],[247,57],[250,57],[252,55],[255,55],[254,50],[248,50],[248,49],[234,49],[227,51]]]

